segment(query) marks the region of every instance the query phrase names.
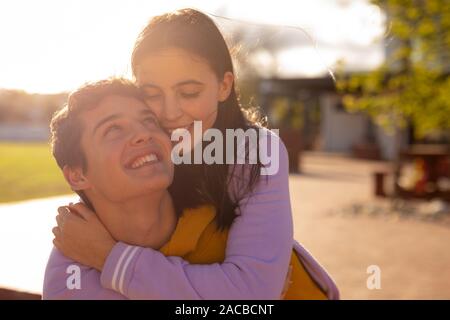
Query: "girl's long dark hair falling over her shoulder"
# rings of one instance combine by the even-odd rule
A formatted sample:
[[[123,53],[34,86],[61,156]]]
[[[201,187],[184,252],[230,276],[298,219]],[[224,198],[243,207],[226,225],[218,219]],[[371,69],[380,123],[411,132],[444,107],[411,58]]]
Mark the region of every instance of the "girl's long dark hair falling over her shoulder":
[[[208,61],[218,79],[225,72],[233,72],[233,63],[226,42],[206,14],[194,9],[182,9],[154,17],[136,40],[131,66],[136,76],[139,63],[147,54],[163,48],[180,48]],[[234,73],[234,72],[233,72]],[[227,100],[219,103],[214,128],[225,137],[225,129],[258,128],[260,118],[257,113],[241,108],[235,86]],[[225,145],[223,154],[225,155]],[[235,148],[236,149],[236,148]],[[248,148],[247,156],[248,156]],[[235,150],[235,158],[236,158]],[[186,208],[210,204],[216,208],[216,222],[220,229],[231,226],[239,214],[239,201],[252,191],[260,177],[261,163],[245,167],[245,183],[240,185],[239,194],[229,193],[230,171],[228,164],[180,164],[175,166],[175,177],[169,188],[178,214]],[[248,167],[250,166],[250,167]],[[244,170],[244,166],[241,166]],[[247,173],[247,174],[245,174]]]

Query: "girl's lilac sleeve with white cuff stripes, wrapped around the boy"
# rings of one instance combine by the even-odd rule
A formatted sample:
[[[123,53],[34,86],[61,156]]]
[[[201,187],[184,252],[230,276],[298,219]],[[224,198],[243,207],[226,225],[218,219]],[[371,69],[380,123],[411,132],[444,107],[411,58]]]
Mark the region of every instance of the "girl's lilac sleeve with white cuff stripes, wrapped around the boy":
[[[102,285],[131,299],[279,299],[292,254],[293,223],[288,156],[281,141],[277,149],[277,173],[262,176],[240,201],[224,262],[189,264],[180,257],[118,243],[105,263]],[[240,181],[233,179],[236,191]],[[123,275],[122,282],[118,275]]]

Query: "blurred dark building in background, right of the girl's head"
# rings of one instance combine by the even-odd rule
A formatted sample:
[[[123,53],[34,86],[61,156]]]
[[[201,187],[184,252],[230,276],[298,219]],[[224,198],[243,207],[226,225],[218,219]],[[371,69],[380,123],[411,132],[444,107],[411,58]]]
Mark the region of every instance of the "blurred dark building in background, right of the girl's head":
[[[395,136],[368,115],[346,111],[330,77],[264,79],[259,95],[270,125],[296,129],[305,150],[386,160],[395,157]],[[409,130],[403,130],[401,146],[409,141]]]

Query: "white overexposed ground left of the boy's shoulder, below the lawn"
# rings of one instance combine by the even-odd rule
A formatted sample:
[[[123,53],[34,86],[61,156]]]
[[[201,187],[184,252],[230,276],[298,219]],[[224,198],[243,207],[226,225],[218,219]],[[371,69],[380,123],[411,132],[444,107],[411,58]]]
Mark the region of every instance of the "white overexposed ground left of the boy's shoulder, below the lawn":
[[[40,293],[52,248],[52,227],[63,196],[0,205],[0,288]]]

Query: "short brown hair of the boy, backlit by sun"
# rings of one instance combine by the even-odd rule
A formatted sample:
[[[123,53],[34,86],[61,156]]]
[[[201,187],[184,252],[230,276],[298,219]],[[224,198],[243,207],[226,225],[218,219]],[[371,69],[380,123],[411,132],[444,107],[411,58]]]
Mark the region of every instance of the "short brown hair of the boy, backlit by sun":
[[[129,80],[111,78],[88,83],[69,95],[67,104],[56,111],[50,122],[50,144],[58,166],[63,169],[81,166],[87,169],[87,161],[81,147],[83,124],[79,115],[96,107],[111,95],[133,97],[145,103],[141,91]]]

